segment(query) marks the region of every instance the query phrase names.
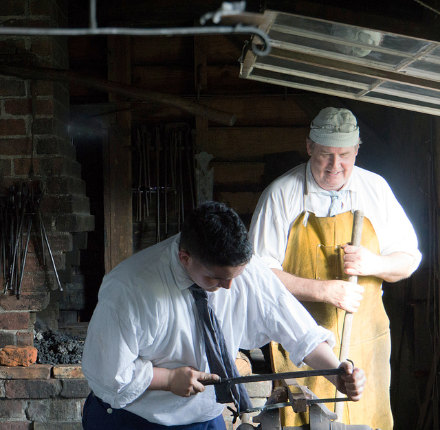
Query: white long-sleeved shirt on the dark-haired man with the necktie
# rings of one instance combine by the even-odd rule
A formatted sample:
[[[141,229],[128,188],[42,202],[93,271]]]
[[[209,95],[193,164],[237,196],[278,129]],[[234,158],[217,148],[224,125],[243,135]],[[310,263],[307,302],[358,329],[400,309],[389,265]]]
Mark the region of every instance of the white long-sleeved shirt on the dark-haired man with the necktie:
[[[162,425],[203,422],[224,408],[214,387],[183,398],[148,390],[153,367],[193,366],[209,372],[193,284],[178,258],[179,236],[144,249],[104,277],[87,332],[83,373],[96,396],[112,407]],[[318,326],[258,257],[230,290],[208,293],[228,349],[283,343],[297,365],[322,341],[333,348],[331,332]]]

